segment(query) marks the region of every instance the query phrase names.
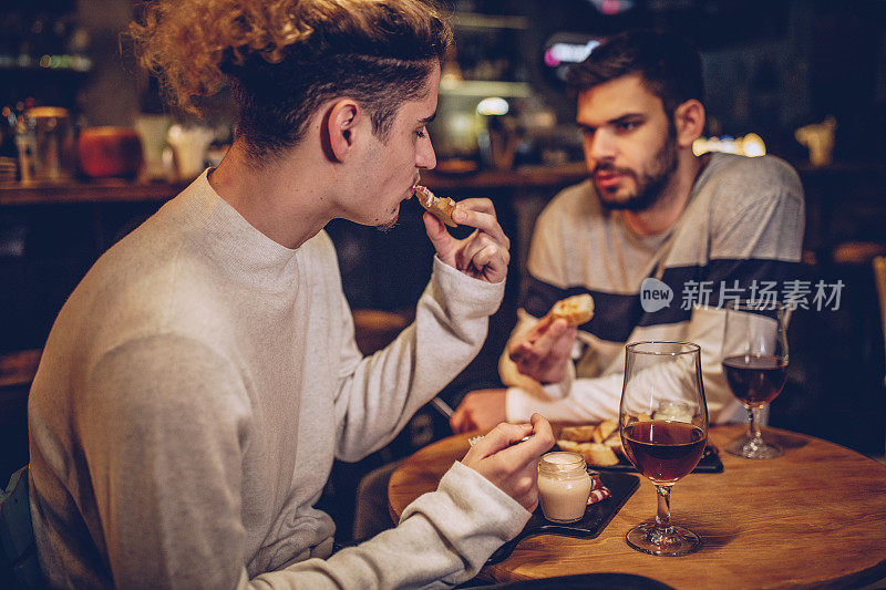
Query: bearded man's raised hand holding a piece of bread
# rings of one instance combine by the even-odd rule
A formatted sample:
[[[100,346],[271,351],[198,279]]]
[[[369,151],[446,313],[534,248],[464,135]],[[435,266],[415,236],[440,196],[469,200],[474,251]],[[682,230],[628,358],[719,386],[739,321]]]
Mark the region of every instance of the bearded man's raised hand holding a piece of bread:
[[[571,362],[578,328],[566,320],[545,315],[523,337],[511,343],[508,356],[517,371],[542,383],[559,383]]]

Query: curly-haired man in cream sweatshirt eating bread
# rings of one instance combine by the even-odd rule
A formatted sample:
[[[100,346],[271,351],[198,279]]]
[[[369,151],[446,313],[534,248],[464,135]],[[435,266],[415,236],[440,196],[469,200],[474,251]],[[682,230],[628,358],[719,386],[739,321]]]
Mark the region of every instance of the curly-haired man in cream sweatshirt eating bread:
[[[537,504],[553,444],[503,424],[396,528],[332,555],[313,506],[476,354],[508,240],[466,199],[415,322],[362,358],[323,226],[396,220],[451,32],[423,0],[161,0],[132,34],[181,106],[227,84],[215,169],[111,248],[53,325],[30,396],[31,513],[52,587],[450,587]],[[526,434],[527,442],[509,446]]]

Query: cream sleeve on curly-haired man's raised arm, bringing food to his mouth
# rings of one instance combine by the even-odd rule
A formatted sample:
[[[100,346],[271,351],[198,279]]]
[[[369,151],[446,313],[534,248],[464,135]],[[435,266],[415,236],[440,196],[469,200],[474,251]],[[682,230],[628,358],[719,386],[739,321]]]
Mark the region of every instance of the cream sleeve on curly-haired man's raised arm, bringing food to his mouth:
[[[467,277],[434,257],[415,321],[387,348],[361,359],[350,313],[343,313],[344,358],[336,395],[337,456],[360,459],[388,444],[419,407],[436,395],[480,351],[504,281]]]

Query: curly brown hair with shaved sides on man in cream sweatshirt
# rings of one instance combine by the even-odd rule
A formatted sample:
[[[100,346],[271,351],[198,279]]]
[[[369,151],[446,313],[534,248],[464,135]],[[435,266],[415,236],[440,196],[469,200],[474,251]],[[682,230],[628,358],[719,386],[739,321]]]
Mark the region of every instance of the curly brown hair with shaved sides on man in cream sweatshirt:
[[[364,106],[387,139],[452,44],[436,0],[156,0],[128,34],[186,111],[199,114],[196,96],[229,85],[256,158],[296,145],[337,96]]]

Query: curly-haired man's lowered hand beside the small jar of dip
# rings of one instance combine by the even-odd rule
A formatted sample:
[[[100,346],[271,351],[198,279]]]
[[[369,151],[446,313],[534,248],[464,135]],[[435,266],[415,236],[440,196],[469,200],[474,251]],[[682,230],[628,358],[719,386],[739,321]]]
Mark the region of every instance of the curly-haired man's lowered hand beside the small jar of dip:
[[[511,446],[527,434],[532,438]],[[550,424],[540,414],[533,414],[532,425],[498,424],[471,447],[462,464],[532,513],[538,506],[538,458],[552,446]]]

